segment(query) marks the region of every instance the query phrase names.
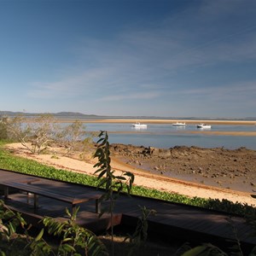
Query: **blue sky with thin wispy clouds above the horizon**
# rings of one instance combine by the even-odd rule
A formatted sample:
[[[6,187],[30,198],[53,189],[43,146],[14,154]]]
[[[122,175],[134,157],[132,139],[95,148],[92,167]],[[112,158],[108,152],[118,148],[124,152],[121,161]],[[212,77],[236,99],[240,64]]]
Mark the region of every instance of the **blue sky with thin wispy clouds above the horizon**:
[[[254,0],[0,0],[1,111],[256,116]]]

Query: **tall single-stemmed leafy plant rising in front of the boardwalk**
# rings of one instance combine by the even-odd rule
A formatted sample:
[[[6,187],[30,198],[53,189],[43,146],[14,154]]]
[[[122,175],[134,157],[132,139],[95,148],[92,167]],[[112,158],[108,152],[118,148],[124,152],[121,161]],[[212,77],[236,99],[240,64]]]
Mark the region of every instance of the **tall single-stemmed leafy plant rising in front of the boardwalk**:
[[[109,201],[108,209],[103,209],[101,215],[105,212],[110,213],[111,219],[111,235],[113,245],[113,207],[114,202],[118,198],[119,193],[127,190],[127,194],[130,195],[132,183],[134,181],[134,175],[131,172],[122,172],[121,175],[115,175],[115,171],[111,168],[111,158],[108,143],[108,132],[101,131],[99,134],[99,140],[97,141],[97,148],[94,157],[98,158],[98,162],[94,167],[97,167],[95,174],[98,174],[97,188],[104,188],[105,193],[102,194],[99,201]],[[113,253],[113,248],[112,248]]]

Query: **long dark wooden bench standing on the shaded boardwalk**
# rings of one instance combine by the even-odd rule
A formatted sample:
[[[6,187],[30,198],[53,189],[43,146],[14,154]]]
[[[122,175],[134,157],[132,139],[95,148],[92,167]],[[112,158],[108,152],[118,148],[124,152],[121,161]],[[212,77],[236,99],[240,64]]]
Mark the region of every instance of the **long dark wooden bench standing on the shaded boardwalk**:
[[[63,193],[55,193],[53,190],[42,188],[37,185],[31,184],[31,183],[18,183],[18,182],[11,182],[11,181],[3,181],[0,184],[4,187],[4,200],[9,199],[9,188],[12,189],[19,189],[22,191],[25,191],[27,193],[32,193],[34,197],[34,208],[38,208],[38,195],[45,196],[51,199],[55,199],[57,201],[64,201],[67,203],[70,203],[72,205],[73,210],[77,206],[77,204],[90,201],[90,200],[96,200],[96,213],[101,212],[101,205],[99,198],[101,195],[93,193],[87,193],[87,194],[79,194],[77,196],[71,196],[64,195]]]

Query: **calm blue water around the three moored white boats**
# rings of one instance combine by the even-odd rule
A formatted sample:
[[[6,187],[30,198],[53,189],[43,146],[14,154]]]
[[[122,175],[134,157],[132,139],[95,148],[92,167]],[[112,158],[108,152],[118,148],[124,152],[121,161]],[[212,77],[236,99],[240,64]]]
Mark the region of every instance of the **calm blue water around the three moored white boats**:
[[[198,146],[202,148],[240,148],[256,150],[256,137],[220,136],[198,131],[195,125],[175,127],[172,125],[148,125],[147,129],[135,129],[131,124],[86,124],[86,131],[108,131],[109,143],[133,144],[156,148],[172,148],[174,146]],[[256,131],[256,125],[212,125],[211,131]]]

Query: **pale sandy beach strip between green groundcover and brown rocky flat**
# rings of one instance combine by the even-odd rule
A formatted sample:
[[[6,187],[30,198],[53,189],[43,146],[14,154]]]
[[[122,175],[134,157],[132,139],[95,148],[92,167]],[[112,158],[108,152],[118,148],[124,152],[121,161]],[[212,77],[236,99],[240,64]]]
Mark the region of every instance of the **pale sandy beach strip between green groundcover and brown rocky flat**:
[[[55,166],[59,169],[68,170],[71,172],[86,173],[94,175],[96,168],[94,164],[96,160],[90,159],[86,162],[84,160],[73,159],[65,155],[58,154],[58,158],[52,158],[53,154],[29,154],[20,143],[12,143],[8,145],[14,154],[37,160],[48,166]],[[56,152],[56,148],[55,148]],[[112,158],[112,167],[117,172],[133,172],[135,175],[135,185],[143,186],[151,189],[158,189],[166,192],[174,192],[180,195],[188,195],[190,197],[198,196],[201,198],[212,199],[226,199],[233,202],[247,203],[248,205],[256,206],[256,200],[253,199],[249,193],[244,193],[230,189],[219,189],[217,187],[206,186],[203,184],[189,183],[182,180],[162,177],[160,175],[150,174],[135,167],[126,165],[119,160]]]

